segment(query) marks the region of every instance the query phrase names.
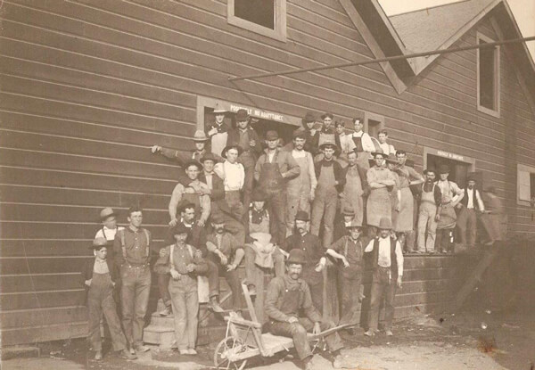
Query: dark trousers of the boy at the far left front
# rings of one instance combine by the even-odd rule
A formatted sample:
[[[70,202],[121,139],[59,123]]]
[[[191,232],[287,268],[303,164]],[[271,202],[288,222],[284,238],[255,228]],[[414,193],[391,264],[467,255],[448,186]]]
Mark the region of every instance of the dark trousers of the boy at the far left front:
[[[89,310],[89,333],[87,338],[93,349],[103,349],[100,322],[101,317],[104,315],[106,323],[108,324],[108,329],[110,330],[113,349],[126,349],[127,340],[120,328],[117,307],[115,306],[115,300],[113,300],[113,287],[111,286],[110,281],[99,281],[97,275],[101,274],[93,274],[91,286],[89,292],[87,292],[87,308]]]

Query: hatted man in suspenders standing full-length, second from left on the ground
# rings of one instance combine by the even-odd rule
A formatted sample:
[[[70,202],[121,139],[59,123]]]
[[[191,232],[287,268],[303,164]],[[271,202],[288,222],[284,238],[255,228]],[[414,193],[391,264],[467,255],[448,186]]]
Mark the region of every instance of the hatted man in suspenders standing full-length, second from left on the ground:
[[[139,207],[130,207],[127,219],[128,227],[115,235],[113,250],[120,270],[123,328],[130,353],[136,354],[149,350],[143,345],[143,327],[151,292],[151,233],[141,227],[143,211]]]

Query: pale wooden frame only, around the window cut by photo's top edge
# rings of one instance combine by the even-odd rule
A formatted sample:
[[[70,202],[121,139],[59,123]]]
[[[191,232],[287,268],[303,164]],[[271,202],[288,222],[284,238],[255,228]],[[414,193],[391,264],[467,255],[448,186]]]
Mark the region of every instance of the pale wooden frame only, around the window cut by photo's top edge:
[[[275,29],[268,29],[251,21],[236,17],[235,0],[228,0],[227,2],[226,21],[241,29],[248,29],[259,35],[286,42],[286,0],[275,0]]]

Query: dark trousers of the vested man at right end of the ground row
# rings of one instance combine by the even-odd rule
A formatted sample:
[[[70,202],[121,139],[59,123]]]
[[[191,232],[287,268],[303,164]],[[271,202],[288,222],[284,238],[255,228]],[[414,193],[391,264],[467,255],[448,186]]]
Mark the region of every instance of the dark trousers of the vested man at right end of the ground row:
[[[397,276],[389,278],[389,267],[380,267],[374,271],[368,328],[377,330],[379,306],[384,299],[384,329],[390,330],[394,318],[394,297],[396,296]]]

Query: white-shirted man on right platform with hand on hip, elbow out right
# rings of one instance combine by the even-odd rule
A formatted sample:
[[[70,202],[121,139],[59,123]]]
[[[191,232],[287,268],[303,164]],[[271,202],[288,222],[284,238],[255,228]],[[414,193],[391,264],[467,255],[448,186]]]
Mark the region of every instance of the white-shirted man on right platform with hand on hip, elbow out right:
[[[455,207],[465,197],[465,192],[456,183],[449,181],[449,167],[447,165],[440,165],[439,177],[439,180],[435,184],[440,187],[440,193],[442,193],[442,201],[440,202],[442,207],[440,210],[440,219],[437,224],[435,250],[442,253],[451,252],[449,248],[449,233],[455,229],[457,224]]]

